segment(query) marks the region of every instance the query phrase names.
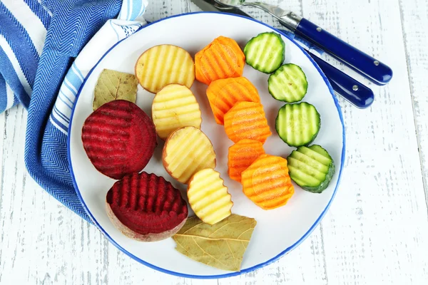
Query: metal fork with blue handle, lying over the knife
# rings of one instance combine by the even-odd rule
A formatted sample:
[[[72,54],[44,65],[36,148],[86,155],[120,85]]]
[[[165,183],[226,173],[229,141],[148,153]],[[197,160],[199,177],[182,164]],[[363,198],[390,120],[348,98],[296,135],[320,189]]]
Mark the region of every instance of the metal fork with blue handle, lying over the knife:
[[[305,38],[322,48],[325,52],[335,56],[338,60],[345,63],[358,73],[370,79],[377,85],[387,84],[392,78],[392,69],[376,58],[369,56],[349,43],[328,33],[320,26],[311,21],[298,16],[292,11],[281,9],[278,6],[266,4],[263,2],[247,2],[245,0],[215,0],[218,9],[239,8],[240,6],[255,6],[271,14],[280,21],[290,31]],[[221,6],[223,5],[223,6]]]

